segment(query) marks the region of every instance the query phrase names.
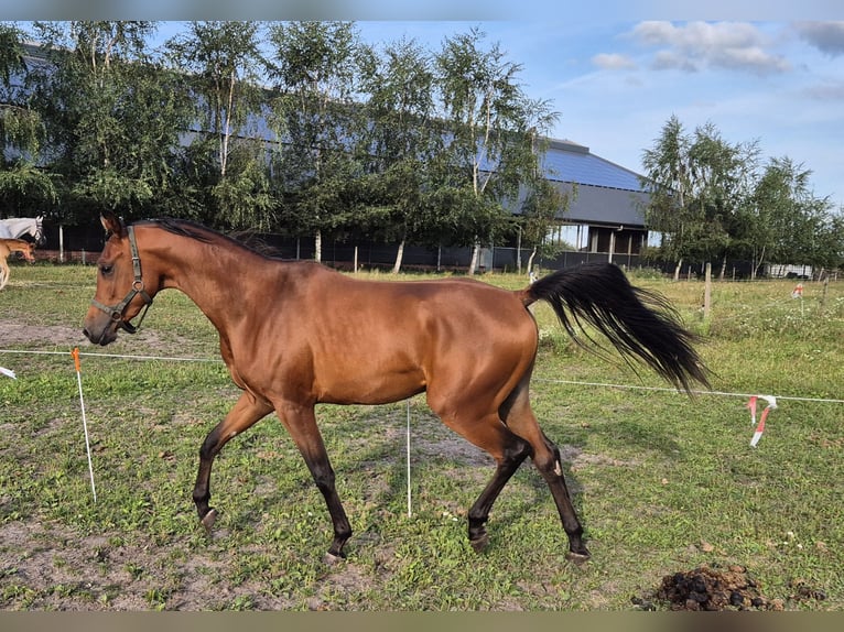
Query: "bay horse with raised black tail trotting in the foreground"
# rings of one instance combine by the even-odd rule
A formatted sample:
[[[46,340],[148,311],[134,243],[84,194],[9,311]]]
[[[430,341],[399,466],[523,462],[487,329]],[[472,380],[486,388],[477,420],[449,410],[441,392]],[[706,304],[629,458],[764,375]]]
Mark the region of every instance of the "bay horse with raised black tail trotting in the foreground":
[[[528,309],[548,301],[576,335],[595,326],[624,355],[638,357],[678,388],[706,384],[693,336],[653,293],[613,264],[554,272],[510,292],[469,280],[356,280],[315,262],[282,261],[197,224],[159,219],[123,226],[102,217],[108,238],[85,336],[108,345],[165,288],[184,292],[219,333],[220,351],[244,391],[199,449],[193,500],[207,527],[214,458],[226,443],[275,412],[325,498],[334,526],[328,558],[343,556],[351,527],[314,406],[383,404],[425,392],[440,418],[496,460],[493,479],[468,512],[468,537],[487,543],[486,522],[507,481],[528,457],[548,483],[567,555],[589,556],[558,447],[537,423],[529,382],[538,331]],[[141,315],[141,319],[143,315]]]

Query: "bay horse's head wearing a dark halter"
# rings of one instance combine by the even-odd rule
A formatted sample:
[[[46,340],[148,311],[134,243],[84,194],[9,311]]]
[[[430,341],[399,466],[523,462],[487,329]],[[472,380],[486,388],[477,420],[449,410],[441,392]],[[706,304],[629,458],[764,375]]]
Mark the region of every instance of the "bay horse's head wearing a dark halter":
[[[118,329],[129,334],[138,330],[130,320],[141,309],[143,320],[158,288],[148,291],[144,285],[133,228],[123,226],[112,215],[100,220],[108,238],[97,261],[97,292],[85,316],[83,334],[91,342],[105,346],[117,339]]]

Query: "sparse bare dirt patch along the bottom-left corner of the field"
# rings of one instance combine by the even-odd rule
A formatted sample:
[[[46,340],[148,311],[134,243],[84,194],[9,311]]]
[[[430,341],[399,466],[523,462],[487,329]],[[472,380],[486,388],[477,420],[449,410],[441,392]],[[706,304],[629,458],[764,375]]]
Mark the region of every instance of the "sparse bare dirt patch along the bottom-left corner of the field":
[[[221,537],[220,534],[217,536]],[[286,610],[297,606],[268,595],[267,578],[223,579],[229,562],[192,552],[177,571],[166,570],[167,552],[151,541],[129,544],[104,535],[79,537],[55,524],[0,525],[0,592],[8,610],[206,611],[241,602],[249,609]],[[260,553],[260,552],[257,552]],[[351,562],[325,566],[312,610],[332,609],[368,582]]]

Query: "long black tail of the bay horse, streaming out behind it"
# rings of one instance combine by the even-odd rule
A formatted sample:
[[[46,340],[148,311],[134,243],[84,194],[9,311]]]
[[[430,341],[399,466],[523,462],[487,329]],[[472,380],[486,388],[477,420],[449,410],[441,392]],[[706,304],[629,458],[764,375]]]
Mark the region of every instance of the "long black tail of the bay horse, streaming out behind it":
[[[678,389],[691,391],[691,380],[708,388],[708,371],[692,347],[697,338],[683,328],[675,309],[660,294],[630,285],[613,263],[560,270],[538,280],[526,294],[527,304],[548,301],[578,345],[586,347],[580,337],[588,338],[585,320],[624,357],[640,358]]]

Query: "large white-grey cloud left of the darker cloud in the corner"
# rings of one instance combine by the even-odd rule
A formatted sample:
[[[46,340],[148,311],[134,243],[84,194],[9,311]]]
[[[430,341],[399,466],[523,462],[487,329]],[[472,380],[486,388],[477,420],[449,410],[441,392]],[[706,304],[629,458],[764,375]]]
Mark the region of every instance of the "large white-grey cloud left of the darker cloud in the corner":
[[[756,74],[791,69],[782,56],[769,51],[765,33],[745,22],[640,22],[630,35],[643,46],[658,48],[656,69],[725,68]]]

